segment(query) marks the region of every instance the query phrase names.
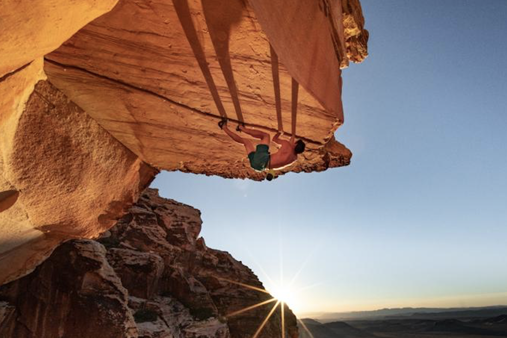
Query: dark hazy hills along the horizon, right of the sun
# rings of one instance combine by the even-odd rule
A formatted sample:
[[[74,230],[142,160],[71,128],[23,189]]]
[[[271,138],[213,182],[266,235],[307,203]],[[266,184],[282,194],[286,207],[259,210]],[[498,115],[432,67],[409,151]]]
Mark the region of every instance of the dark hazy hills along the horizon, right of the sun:
[[[500,314],[489,317],[490,313]],[[347,314],[350,318],[345,321],[302,319],[300,338],[507,337],[507,307],[501,306],[382,309]]]

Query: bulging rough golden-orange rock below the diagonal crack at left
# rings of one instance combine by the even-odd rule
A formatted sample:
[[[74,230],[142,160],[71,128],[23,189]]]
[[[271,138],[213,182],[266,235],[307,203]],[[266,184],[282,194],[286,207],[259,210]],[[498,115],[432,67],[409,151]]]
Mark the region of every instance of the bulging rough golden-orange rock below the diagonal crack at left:
[[[46,81],[42,64],[0,81],[0,284],[61,241],[113,226],[157,173]]]

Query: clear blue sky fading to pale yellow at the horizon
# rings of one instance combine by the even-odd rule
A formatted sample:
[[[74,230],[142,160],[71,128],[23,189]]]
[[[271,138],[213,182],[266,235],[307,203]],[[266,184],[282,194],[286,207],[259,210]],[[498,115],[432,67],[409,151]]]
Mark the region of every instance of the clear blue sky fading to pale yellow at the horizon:
[[[336,133],[349,166],[153,186],[268,288],[280,256],[285,280],[307,262],[300,314],[507,304],[507,1],[361,3],[370,56],[343,72]]]

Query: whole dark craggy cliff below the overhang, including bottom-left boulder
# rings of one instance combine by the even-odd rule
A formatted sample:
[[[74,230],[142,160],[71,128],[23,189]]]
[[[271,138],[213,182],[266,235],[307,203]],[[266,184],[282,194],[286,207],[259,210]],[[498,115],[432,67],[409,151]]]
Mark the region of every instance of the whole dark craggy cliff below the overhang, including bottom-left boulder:
[[[275,303],[257,277],[199,238],[198,210],[147,190],[99,240],[60,245],[0,287],[0,336],[250,338]],[[280,337],[279,307],[259,337]],[[285,336],[298,335],[285,308]],[[98,333],[100,332],[100,333]]]

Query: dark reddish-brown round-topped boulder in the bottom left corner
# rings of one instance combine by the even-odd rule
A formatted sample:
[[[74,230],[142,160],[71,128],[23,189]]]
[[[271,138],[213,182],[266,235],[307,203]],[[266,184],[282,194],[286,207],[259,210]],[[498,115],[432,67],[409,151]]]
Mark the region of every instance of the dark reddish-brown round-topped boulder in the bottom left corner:
[[[2,286],[0,298],[11,312],[0,315],[2,337],[137,337],[127,290],[92,240],[60,245],[35,271]]]

